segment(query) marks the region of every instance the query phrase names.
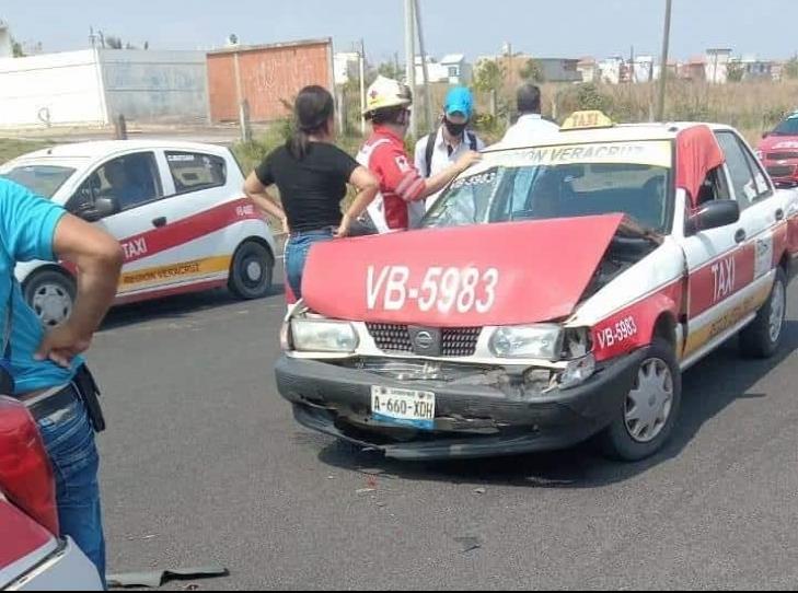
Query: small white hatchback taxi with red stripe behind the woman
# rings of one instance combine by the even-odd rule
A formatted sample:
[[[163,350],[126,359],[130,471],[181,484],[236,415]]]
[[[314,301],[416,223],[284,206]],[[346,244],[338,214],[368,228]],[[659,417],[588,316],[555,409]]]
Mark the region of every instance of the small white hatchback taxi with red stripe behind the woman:
[[[114,235],[125,251],[117,304],[227,286],[242,299],[268,293],[275,243],[243,195],[232,152],[188,142],[107,141],[57,146],[0,166],[0,175]],[[72,309],[72,270],[35,261],[16,268],[45,325]]]

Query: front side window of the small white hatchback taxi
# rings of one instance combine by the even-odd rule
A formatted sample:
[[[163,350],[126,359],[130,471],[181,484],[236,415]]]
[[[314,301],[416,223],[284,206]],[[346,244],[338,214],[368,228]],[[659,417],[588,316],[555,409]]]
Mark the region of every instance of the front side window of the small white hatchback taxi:
[[[97,198],[111,198],[124,211],[163,197],[158,164],[152,152],[126,154],[108,161],[81,184],[69,200],[70,212],[91,209]]]

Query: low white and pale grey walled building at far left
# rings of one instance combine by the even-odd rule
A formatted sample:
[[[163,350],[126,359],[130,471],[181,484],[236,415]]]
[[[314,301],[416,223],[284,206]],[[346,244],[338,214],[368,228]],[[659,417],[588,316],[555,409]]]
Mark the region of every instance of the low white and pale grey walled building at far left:
[[[207,120],[201,51],[85,49],[0,59],[0,127]]]

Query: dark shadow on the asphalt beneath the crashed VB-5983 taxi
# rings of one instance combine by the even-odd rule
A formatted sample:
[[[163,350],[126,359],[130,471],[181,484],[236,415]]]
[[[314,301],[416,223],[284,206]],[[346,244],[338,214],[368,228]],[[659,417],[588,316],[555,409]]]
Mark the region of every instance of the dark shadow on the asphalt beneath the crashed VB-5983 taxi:
[[[614,463],[600,456],[592,443],[554,453],[455,462],[407,463],[361,452],[344,442],[327,445],[319,458],[344,469],[377,468],[410,480],[494,484],[545,488],[595,488],[622,481],[679,456],[702,427],[738,399],[766,398],[750,393],[760,380],[798,348],[798,322],[786,322],[784,344],[768,360],[743,360],[737,339],[684,374],[682,411],[669,445],[658,455],[635,464]]]

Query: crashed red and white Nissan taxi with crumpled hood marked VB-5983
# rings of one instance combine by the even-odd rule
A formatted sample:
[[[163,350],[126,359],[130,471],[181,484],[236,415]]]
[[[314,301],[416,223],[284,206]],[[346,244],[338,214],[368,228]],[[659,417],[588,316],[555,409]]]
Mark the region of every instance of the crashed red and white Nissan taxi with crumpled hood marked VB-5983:
[[[640,460],[682,371],[778,348],[798,195],[733,129],[579,114],[484,156],[423,230],[314,247],[276,370],[299,422],[408,460]]]

